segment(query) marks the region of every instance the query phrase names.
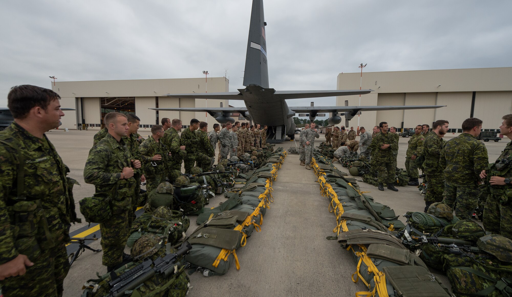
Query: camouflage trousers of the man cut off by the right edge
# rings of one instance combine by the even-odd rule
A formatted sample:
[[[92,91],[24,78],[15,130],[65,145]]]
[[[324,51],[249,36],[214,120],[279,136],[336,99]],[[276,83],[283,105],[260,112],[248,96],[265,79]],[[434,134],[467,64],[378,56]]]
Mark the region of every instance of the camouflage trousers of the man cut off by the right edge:
[[[490,194],[483,211],[483,227],[492,234],[512,238],[512,205],[501,202],[501,195]]]

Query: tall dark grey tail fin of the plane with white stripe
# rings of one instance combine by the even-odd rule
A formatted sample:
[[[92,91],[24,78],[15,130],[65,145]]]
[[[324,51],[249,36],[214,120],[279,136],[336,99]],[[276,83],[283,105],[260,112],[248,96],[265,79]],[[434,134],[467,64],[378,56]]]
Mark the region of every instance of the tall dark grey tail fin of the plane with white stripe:
[[[252,0],[247,55],[245,56],[244,86],[268,88],[267,42],[265,36],[263,0]]]

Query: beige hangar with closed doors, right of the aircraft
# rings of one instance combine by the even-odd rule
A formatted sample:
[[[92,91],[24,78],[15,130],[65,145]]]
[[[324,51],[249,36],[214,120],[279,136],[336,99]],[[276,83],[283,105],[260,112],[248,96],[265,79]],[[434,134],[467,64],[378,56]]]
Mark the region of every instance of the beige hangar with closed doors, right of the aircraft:
[[[337,89],[359,86],[361,73],[340,73]],[[414,128],[439,119],[447,120],[449,134],[462,132],[462,122],[476,117],[484,131],[498,130],[501,117],[512,113],[512,67],[420,70],[362,73],[362,89],[374,92],[361,95],[361,105],[446,105],[438,109],[362,112],[359,126],[371,131],[379,122],[396,128]],[[336,105],[359,105],[359,96],[338,96]],[[344,124],[342,120],[341,124]],[[357,126],[357,116],[350,121]]]

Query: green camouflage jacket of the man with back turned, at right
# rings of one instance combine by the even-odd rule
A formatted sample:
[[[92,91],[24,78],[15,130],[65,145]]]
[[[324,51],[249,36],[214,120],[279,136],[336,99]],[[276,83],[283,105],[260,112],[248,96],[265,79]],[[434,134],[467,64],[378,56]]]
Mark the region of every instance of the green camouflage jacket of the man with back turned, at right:
[[[489,163],[485,145],[468,133],[446,141],[439,161],[445,181],[459,185],[476,185]]]

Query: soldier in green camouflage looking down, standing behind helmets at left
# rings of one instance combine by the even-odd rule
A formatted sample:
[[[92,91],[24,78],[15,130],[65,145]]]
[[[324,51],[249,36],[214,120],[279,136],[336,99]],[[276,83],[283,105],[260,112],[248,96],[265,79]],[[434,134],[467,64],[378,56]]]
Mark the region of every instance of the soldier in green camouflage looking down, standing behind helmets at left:
[[[161,125],[151,128],[152,137],[142,142],[139,147],[142,171],[146,176],[146,190],[151,192],[165,181],[168,172],[169,149],[160,141],[164,135]]]

